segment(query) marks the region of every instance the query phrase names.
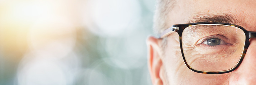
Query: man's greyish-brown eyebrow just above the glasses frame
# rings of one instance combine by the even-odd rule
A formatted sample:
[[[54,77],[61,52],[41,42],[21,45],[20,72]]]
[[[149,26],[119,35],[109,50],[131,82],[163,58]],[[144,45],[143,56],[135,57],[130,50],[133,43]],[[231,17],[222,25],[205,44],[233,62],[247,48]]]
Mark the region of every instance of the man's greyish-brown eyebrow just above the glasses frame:
[[[220,23],[230,23],[236,24],[238,21],[236,17],[225,14],[203,14],[203,13],[195,13],[192,19],[188,21],[188,23],[197,23],[197,22],[220,22]]]

